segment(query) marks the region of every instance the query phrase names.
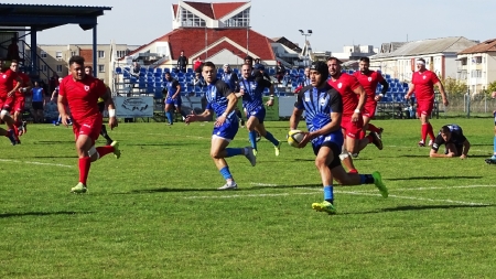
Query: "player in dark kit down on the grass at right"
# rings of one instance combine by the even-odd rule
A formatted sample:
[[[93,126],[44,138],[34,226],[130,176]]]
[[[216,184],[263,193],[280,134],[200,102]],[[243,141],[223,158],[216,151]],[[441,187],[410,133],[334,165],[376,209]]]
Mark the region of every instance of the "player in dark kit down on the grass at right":
[[[443,154],[438,153],[439,148],[444,144],[445,150]],[[460,157],[465,159],[471,149],[471,143],[463,135],[463,130],[460,126],[452,124],[441,127],[438,137],[432,144],[430,158],[452,158]]]

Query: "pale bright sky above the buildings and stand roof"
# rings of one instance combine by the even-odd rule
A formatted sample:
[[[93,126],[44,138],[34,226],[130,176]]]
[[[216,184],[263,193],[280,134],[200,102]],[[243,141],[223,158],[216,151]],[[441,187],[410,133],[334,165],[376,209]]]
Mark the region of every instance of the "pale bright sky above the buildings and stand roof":
[[[213,0],[191,0],[213,2]],[[239,0],[216,0],[237,2]],[[111,7],[98,18],[98,43],[142,45],[172,31],[179,0],[7,0],[8,3]],[[496,37],[494,0],[251,0],[250,24],[268,37],[302,45],[299,32],[312,30],[314,51],[343,52],[345,45],[374,45],[446,36],[481,42]],[[91,31],[68,24],[39,33],[39,44],[91,43]]]

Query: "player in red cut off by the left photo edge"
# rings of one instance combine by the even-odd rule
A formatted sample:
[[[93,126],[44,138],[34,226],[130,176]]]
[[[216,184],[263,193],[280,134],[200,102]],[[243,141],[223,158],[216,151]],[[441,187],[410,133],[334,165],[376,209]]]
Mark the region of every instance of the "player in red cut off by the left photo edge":
[[[14,85],[14,81],[15,83]],[[8,127],[8,137],[11,139],[14,138],[14,141],[11,140],[12,146],[15,143],[21,143],[19,140],[18,128],[15,127],[15,122],[10,116],[10,110],[12,107],[13,99],[10,98],[14,95],[14,93],[21,86],[21,78],[18,76],[15,72],[12,72],[10,68],[7,71],[3,69],[3,62],[0,61],[0,119],[2,119]]]

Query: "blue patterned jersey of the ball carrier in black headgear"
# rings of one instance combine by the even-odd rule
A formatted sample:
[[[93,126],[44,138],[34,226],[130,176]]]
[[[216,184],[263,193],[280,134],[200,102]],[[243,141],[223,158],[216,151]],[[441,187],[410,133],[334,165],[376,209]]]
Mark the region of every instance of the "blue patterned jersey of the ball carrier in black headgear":
[[[332,121],[331,112],[343,112],[343,100],[339,93],[328,84],[323,88],[305,86],[298,94],[294,107],[305,110],[306,128],[309,131],[316,131]],[[337,133],[342,135],[341,129]],[[322,140],[320,138],[313,139],[312,143]]]

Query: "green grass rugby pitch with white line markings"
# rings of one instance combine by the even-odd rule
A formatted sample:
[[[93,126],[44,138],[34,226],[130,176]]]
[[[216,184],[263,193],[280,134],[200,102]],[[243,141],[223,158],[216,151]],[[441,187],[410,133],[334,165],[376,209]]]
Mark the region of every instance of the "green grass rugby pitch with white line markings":
[[[462,126],[467,160],[428,158],[418,120],[378,120],[385,149],[355,164],[379,170],[390,196],[336,186],[334,216],[311,210],[323,200],[311,148],[276,158],[262,140],[257,167],[227,160],[239,190],[219,192],[213,124],[121,124],[122,157],[94,163],[75,195],[72,130],[31,125],[22,144],[0,141],[0,278],[495,278],[493,120],[432,122]],[[288,122],[267,127],[284,139]]]

